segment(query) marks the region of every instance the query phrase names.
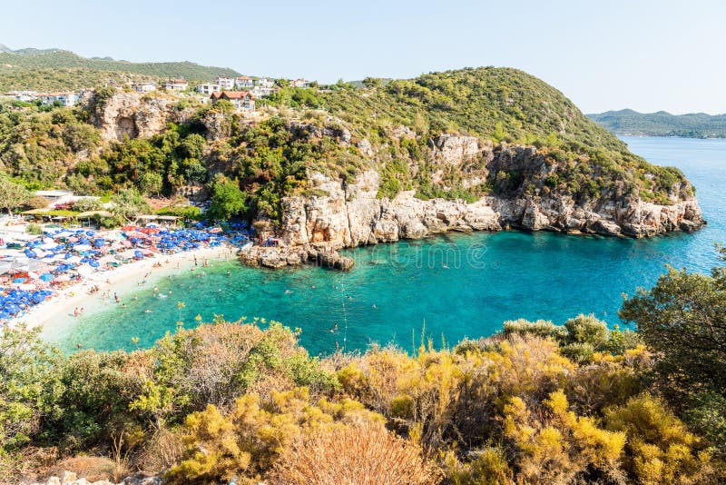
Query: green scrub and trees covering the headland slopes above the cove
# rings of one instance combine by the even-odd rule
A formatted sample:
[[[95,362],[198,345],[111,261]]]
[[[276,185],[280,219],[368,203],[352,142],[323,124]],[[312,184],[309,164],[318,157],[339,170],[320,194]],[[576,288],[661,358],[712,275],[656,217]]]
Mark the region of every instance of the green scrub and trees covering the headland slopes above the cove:
[[[188,183],[211,186],[223,175],[239,183],[248,217],[272,220],[280,218],[282,197],[309,193],[312,170],[340,179],[377,170],[381,197],[413,189],[422,199],[470,202],[486,194],[556,193],[580,203],[638,197],[668,204],[692,194],[678,169],[630,153],[563,94],[514,69],[425,74],[385,86],[368,78],[363,88],[283,88],[260,100],[264,121],[257,124],[242,123],[231,104],[195,108],[180,100],[174,109],[189,113],[182,123],[119,142],[103,142],[90,124],[109,96],[113,90],[99,92],[85,110],[0,113],[0,170],[33,188],[82,193],[136,186],[169,194]],[[434,180],[434,140],[448,133],[473,135],[482,144],[534,145],[550,168],[491,172],[480,183],[465,183],[486,174],[484,163],[475,162]],[[364,141],[375,154],[361,151]],[[159,173],[162,181],[150,190],[143,173]]]

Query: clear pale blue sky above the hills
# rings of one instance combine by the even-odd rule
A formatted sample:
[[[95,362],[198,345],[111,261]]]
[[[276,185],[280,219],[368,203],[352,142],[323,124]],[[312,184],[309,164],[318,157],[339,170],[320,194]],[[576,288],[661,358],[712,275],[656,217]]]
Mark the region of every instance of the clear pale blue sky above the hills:
[[[3,16],[11,48],[321,82],[511,66],[586,113],[726,113],[724,0],[34,0]]]

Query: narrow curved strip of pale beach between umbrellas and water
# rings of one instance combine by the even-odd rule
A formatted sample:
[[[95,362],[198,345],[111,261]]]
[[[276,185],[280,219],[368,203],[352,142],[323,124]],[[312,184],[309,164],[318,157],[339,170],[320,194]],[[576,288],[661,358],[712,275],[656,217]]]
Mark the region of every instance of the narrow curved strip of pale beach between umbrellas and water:
[[[158,254],[123,264],[113,270],[94,272],[84,278],[83,282],[56,292],[54,296],[34,306],[9,324],[17,325],[25,322],[29,327],[41,326],[44,332],[54,332],[55,326],[63,325],[69,319],[75,318],[75,309],[83,308],[83,314],[101,312],[107,304],[114,302],[114,293],[123,302],[132,292],[149,288],[154,282],[169,274],[189,271],[195,265],[195,258],[201,267],[205,260],[237,261],[236,252],[237,248],[222,244],[213,248],[201,247],[174,254]],[[154,264],[157,266],[154,267]],[[99,287],[99,291],[91,293],[94,285]],[[103,298],[104,293],[108,295],[107,298]],[[83,315],[78,318],[83,318]]]

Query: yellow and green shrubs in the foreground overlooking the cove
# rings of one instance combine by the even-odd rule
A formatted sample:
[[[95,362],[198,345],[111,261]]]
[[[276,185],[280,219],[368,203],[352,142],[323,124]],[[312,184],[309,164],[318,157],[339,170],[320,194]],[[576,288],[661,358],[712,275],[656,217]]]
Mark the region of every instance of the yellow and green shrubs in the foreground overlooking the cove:
[[[579,315],[322,358],[257,319],[69,356],[5,327],[0,480],[722,483],[725,275],[663,275],[623,305],[639,332]]]

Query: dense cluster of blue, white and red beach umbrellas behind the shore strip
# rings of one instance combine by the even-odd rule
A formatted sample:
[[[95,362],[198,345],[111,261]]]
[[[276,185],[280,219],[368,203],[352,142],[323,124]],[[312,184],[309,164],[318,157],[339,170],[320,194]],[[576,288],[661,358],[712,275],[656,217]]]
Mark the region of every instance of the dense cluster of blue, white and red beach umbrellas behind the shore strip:
[[[161,266],[176,253],[222,246],[232,251],[249,246],[250,236],[245,223],[229,223],[224,228],[207,223],[191,228],[127,225],[109,231],[49,225],[38,235],[3,231],[0,323],[22,318],[36,305],[60,294],[74,296],[76,285],[82,285],[89,294],[99,292],[96,282],[110,282],[103,276],[122,266],[162,256],[163,260],[154,262],[154,266]],[[67,289],[70,292],[64,292]]]

